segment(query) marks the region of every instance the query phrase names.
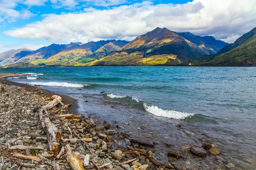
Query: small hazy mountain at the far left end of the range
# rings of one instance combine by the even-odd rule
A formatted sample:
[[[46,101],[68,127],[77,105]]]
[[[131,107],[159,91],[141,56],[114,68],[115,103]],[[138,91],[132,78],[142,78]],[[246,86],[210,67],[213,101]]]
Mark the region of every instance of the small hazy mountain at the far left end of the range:
[[[32,53],[32,50],[21,48],[17,50],[10,50],[0,54],[0,65],[10,65],[18,59],[25,57]]]

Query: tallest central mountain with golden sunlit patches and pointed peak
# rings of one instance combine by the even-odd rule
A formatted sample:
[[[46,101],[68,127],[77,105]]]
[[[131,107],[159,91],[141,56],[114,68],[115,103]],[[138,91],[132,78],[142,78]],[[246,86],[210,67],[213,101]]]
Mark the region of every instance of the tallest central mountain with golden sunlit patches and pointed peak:
[[[120,51],[84,65],[176,65],[209,54],[204,48],[167,28],[156,28],[129,42]]]

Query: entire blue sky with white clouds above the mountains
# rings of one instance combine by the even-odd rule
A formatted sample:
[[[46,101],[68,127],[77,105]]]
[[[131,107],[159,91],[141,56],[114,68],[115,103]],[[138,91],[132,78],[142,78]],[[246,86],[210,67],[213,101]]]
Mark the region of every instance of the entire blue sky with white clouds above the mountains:
[[[256,0],[0,0],[0,53],[133,40],[154,28],[232,43],[256,27]]]

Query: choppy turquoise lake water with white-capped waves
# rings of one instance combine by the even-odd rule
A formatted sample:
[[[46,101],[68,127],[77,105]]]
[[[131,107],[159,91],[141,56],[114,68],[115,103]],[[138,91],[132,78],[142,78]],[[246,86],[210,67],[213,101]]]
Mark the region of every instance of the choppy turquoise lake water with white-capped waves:
[[[173,142],[173,147],[209,141],[239,168],[255,164],[255,159],[247,159],[256,156],[256,68],[66,67],[0,72],[33,73],[9,80],[78,98],[81,112],[117,121],[134,136],[148,136],[154,130],[150,134],[154,139],[145,140]],[[177,124],[186,130],[177,129]]]

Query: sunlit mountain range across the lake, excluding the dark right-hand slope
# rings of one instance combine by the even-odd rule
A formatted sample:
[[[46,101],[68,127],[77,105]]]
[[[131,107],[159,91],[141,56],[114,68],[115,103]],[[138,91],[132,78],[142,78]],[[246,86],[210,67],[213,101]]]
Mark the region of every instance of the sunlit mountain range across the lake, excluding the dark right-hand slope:
[[[124,40],[71,42],[52,44],[32,51],[18,49],[0,54],[2,67],[89,66],[89,65],[179,65],[199,61],[206,55],[216,55],[228,43],[212,36],[196,36],[189,32],[177,33],[167,28],[156,28]],[[225,47],[226,47],[225,46]],[[194,63],[192,63],[194,64]]]

